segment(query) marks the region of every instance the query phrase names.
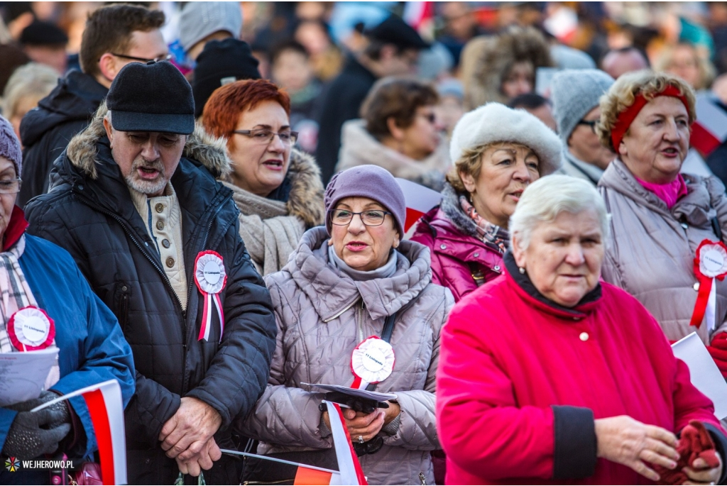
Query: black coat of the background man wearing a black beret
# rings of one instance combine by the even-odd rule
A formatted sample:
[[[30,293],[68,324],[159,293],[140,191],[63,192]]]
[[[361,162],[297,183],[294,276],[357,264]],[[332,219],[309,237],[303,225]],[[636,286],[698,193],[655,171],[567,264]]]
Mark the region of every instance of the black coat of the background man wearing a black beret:
[[[316,147],[316,161],[321,167],[324,186],[333,177],[338,162],[343,123],[360,118],[361,103],[375,82],[376,76],[371,71],[353,57],[349,57],[341,73],[326,87],[318,114]]]

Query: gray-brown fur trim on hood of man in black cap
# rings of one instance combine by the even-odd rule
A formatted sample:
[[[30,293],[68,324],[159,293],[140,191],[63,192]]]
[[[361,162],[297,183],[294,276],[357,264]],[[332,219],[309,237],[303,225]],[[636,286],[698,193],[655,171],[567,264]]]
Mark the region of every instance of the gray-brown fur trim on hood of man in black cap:
[[[103,117],[108,113],[106,102],[101,103],[91,124],[71,139],[66,154],[73,166],[80,169],[87,177],[97,179],[96,169],[98,148],[97,142],[106,135]],[[212,137],[197,123],[194,131],[187,137],[182,157],[193,158],[202,163],[215,177],[227,176],[230,173],[230,159],[227,156],[225,139]]]

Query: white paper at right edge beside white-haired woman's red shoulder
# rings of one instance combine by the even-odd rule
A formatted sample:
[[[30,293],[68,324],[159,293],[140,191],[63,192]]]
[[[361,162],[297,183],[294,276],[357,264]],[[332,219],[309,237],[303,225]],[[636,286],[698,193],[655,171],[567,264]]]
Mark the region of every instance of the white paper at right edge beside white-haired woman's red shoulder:
[[[689,367],[691,384],[715,404],[715,416],[727,417],[727,382],[696,333],[672,344],[674,355]]]

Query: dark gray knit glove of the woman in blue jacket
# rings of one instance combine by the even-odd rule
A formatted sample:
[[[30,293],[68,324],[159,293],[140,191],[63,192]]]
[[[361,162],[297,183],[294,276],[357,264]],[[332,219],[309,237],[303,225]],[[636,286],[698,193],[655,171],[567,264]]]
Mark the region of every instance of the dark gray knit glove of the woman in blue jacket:
[[[68,409],[65,413],[68,413]],[[50,428],[50,424],[60,425]],[[44,408],[37,412],[20,412],[10,425],[2,453],[21,460],[54,453],[58,442],[68,432],[71,432],[71,424],[63,423],[61,410]]]

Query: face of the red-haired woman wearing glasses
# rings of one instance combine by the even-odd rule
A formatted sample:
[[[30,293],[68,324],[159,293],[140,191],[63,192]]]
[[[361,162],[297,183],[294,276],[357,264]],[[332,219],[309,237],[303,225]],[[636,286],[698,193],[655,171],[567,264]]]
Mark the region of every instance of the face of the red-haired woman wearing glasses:
[[[253,133],[230,135],[234,142],[230,150],[232,181],[249,193],[266,197],[283,183],[288,173],[292,143],[284,142],[278,135],[270,140],[264,131],[289,132],[289,118],[280,103],[268,100],[241,113],[235,129]]]

